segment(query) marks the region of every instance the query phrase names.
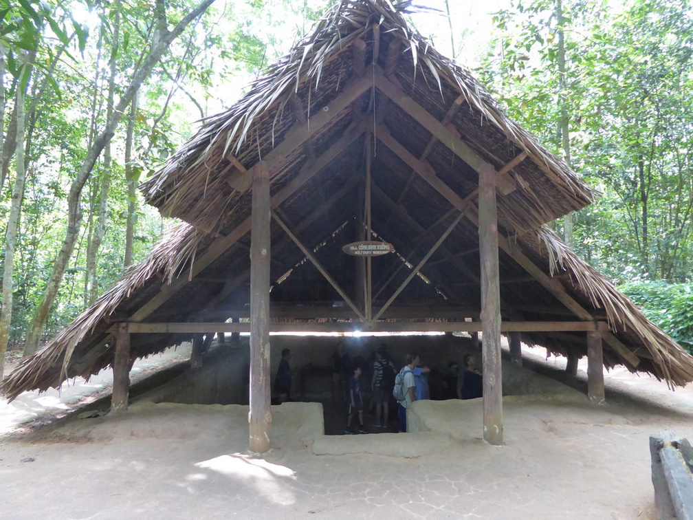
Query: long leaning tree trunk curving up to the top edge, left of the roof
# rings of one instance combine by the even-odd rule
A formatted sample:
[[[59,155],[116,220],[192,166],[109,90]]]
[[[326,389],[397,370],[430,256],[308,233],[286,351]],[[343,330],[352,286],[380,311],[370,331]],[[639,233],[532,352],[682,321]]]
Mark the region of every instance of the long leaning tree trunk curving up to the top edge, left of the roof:
[[[207,10],[214,0],[203,0],[198,6],[196,6],[175,26],[173,31],[168,31],[164,29],[163,35],[159,37],[159,41],[156,45],[152,46],[152,50],[143,60],[141,67],[137,69],[132,78],[132,82],[128,89],[125,90],[123,96],[121,96],[118,105],[114,107],[113,116],[111,119],[106,121],[106,127],[103,132],[96,138],[94,144],[87,150],[87,155],[85,157],[82,166],[80,167],[75,179],[73,180],[69,196],[67,198],[68,211],[67,211],[67,228],[65,236],[62,243],[62,248],[58,254],[58,258],[55,259],[55,265],[53,268],[53,273],[46,285],[46,291],[42,297],[40,304],[37,305],[35,313],[29,325],[28,333],[26,336],[26,344],[24,345],[24,355],[30,355],[36,352],[38,347],[39,339],[43,332],[44,326],[46,324],[46,319],[51,311],[51,306],[55,301],[55,296],[58,294],[58,288],[60,287],[60,282],[64,275],[65,269],[67,268],[67,263],[70,259],[72,251],[74,249],[80,225],[82,223],[82,209],[80,207],[80,198],[82,195],[82,188],[84,188],[91,170],[96,164],[96,159],[98,159],[101,151],[106,146],[108,141],[110,141],[114,135],[116,128],[121,121],[121,116],[125,112],[125,108],[132,103],[132,99],[141,87],[144,80],[146,80],[155,65],[159,62],[162,55],[168,50],[168,46],[175,40],[180,33],[198,16]],[[159,31],[157,31],[158,33]]]

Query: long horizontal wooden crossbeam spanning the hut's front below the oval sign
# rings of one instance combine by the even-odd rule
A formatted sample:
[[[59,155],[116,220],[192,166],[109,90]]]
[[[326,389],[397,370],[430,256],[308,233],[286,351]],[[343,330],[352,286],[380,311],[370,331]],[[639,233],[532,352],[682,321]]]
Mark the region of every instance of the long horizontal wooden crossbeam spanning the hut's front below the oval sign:
[[[466,312],[460,311],[458,316],[464,315]],[[407,313],[408,315],[408,313]],[[312,316],[310,317],[312,318]],[[349,318],[344,316],[344,318]],[[353,318],[353,316],[352,316]],[[373,332],[480,332],[483,325],[478,321],[444,321],[441,318],[429,318],[428,316],[418,316],[419,319],[428,321],[398,321],[398,322],[383,322],[371,321],[369,323],[361,322],[270,322],[270,331],[272,332],[295,332],[295,331],[317,331],[317,332],[340,332],[340,331],[373,331]],[[300,317],[299,317],[300,319]],[[389,318],[387,315],[385,319]],[[399,318],[404,319],[404,318]],[[249,332],[249,323],[227,323],[227,322],[146,322],[128,324],[131,333],[147,334],[211,334],[217,332]],[[594,331],[598,324],[589,322],[502,322],[500,331],[503,333],[509,332],[554,332],[554,331],[569,331],[569,332],[585,332]]]

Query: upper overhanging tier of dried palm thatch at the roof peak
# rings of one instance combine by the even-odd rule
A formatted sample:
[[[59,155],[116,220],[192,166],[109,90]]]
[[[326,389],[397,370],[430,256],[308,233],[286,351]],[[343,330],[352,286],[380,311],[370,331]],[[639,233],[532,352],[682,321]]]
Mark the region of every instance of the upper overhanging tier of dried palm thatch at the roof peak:
[[[355,51],[355,42],[363,48]],[[355,53],[360,53],[358,58]],[[203,122],[197,135],[143,184],[148,202],[166,216],[223,232],[229,209],[242,204],[243,190],[227,184],[236,164],[255,164],[283,139],[295,123],[293,101],[302,100],[301,110],[310,123],[310,116],[328,107],[349,82],[350,69],[362,67],[354,64],[356,60],[365,60],[367,69],[389,73],[405,94],[439,114],[439,119],[453,103],[459,106],[451,122],[466,144],[496,168],[527,153],[512,173],[520,187],[513,196],[513,211],[501,216],[508,227],[516,231],[536,227],[592,200],[592,191],[562,159],[511,121],[471,73],[410,28],[401,10],[387,0],[345,0],[318,22],[312,35],[269,67],[238,103]],[[368,76],[372,71],[363,73]],[[374,82],[363,101],[372,103],[367,98],[376,90]],[[358,115],[351,114],[352,121]],[[403,123],[401,114],[387,116],[391,130]],[[321,134],[318,130],[313,139]],[[305,162],[306,157],[286,157],[272,170],[273,182],[290,175],[292,159]],[[545,193],[552,198],[547,200]]]

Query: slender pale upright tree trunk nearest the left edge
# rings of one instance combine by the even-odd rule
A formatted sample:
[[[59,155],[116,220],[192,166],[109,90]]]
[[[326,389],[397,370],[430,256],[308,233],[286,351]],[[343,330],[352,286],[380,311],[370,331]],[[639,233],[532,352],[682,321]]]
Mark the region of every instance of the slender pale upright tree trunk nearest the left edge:
[[[26,55],[26,53],[22,53]],[[22,71],[29,67],[24,64]],[[19,213],[21,199],[24,197],[24,180],[26,179],[26,165],[24,164],[24,89],[21,82],[17,82],[17,149],[15,150],[15,166],[17,177],[15,189],[12,191],[12,205],[5,234],[5,267],[3,269],[2,295],[3,304],[0,313],[0,379],[5,370],[5,352],[10,340],[10,322],[12,321],[12,267],[15,259],[15,246],[17,245],[17,228],[19,227]]]

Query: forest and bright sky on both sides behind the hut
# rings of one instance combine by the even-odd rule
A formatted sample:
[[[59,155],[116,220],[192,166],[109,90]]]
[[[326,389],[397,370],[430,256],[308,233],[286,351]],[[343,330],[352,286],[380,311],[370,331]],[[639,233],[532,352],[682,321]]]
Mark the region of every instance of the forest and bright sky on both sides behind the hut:
[[[554,229],[690,349],[689,2],[392,1],[602,193]],[[148,255],[139,183],[329,5],[0,0],[0,377]]]

